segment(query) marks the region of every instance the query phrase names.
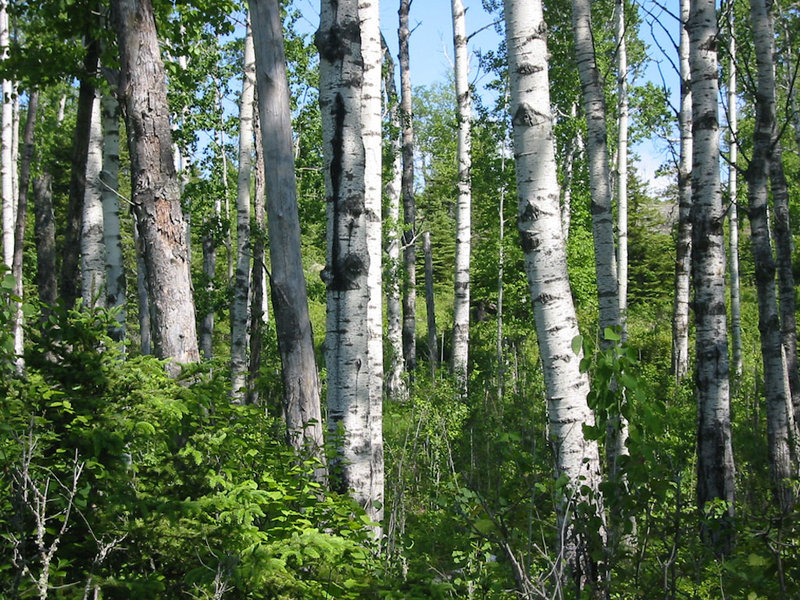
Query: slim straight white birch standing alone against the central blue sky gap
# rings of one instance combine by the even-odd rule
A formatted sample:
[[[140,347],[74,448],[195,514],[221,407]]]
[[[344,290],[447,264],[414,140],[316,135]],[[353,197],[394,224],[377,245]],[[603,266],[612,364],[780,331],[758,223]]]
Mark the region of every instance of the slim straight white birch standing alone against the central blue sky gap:
[[[457,393],[467,396],[469,361],[469,263],[472,238],[472,182],[470,169],[472,102],[469,91],[469,57],[464,4],[452,0],[456,101],[458,103],[458,200],[456,201],[456,256],[453,297],[453,377]]]

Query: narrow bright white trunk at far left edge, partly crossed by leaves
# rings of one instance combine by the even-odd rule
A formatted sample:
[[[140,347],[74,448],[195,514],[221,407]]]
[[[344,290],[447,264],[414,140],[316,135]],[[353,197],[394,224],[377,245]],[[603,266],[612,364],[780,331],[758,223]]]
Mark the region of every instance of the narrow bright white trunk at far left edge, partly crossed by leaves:
[[[8,2],[0,2],[0,56],[8,57],[10,32],[8,23]],[[14,261],[14,219],[17,199],[14,197],[13,128],[14,106],[11,100],[13,87],[11,81],[3,79],[0,83],[3,97],[0,116],[0,191],[3,197],[3,263],[10,269]]]

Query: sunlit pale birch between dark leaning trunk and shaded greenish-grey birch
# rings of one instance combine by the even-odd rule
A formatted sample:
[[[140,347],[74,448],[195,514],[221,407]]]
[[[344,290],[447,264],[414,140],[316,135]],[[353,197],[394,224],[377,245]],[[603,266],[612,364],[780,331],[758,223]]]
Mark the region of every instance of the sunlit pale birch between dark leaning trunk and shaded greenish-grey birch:
[[[103,170],[103,124],[100,92],[92,103],[89,150],[86,155],[86,185],[81,220],[81,297],[83,305],[106,305],[106,257],[103,244],[103,201],[100,172]]]

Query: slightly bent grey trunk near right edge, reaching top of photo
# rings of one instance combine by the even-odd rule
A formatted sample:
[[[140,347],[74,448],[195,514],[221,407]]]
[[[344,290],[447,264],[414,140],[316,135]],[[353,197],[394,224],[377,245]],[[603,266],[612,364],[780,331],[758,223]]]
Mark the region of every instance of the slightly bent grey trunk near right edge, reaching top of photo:
[[[750,9],[758,86],[753,156],[747,168],[747,196],[758,296],[758,330],[761,334],[764,365],[770,474],[778,505],[781,509],[788,510],[794,504],[793,486],[788,483],[795,474],[792,465],[792,432],[789,426],[792,414],[786,396],[786,364],[767,215],[770,155],[775,136],[775,41],[772,15],[767,8],[767,1],[750,0]]]

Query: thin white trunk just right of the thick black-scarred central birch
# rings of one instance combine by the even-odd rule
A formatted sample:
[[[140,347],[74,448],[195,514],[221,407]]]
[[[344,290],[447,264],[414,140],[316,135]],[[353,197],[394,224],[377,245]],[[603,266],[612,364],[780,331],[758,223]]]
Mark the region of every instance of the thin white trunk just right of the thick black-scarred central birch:
[[[389,345],[385,353],[389,358],[386,365],[386,397],[395,402],[403,402],[408,397],[403,380],[403,313],[400,299],[400,195],[403,180],[402,124],[398,106],[397,89],[394,82],[394,62],[388,48],[384,48],[384,88],[389,106],[389,124],[392,128],[390,140],[392,156],[392,175],[384,188],[386,196],[386,268],[384,287],[386,289],[386,341]]]

